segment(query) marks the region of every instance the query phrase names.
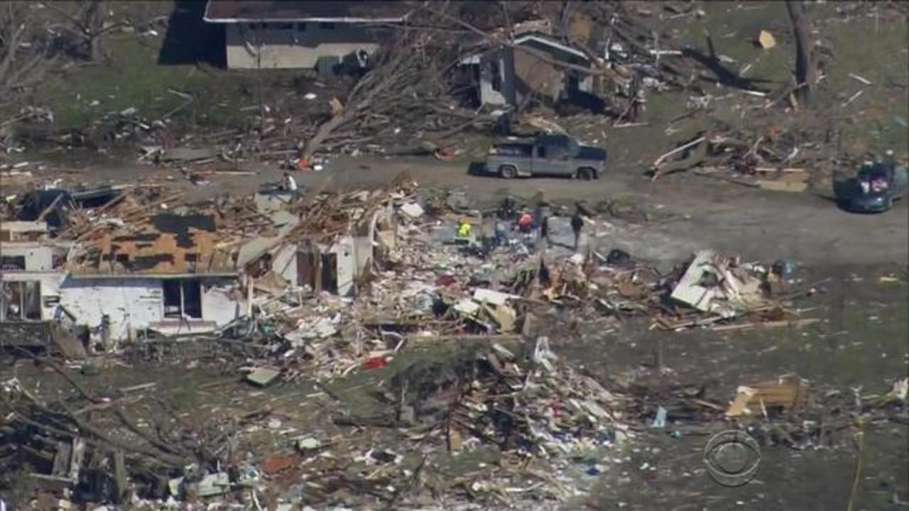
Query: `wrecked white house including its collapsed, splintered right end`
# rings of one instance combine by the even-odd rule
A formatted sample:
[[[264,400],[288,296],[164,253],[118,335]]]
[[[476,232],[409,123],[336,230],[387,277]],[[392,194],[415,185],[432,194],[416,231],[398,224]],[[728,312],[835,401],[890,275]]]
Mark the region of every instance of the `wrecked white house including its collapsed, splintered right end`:
[[[255,221],[240,224],[217,207],[131,213],[141,211],[132,197],[78,210],[88,218],[74,217],[80,228],[4,222],[0,322],[63,322],[113,346],[150,331],[213,332],[288,291],[353,296],[376,257],[395,247],[395,210],[383,193],[334,199],[325,207],[343,215],[310,213],[309,222],[298,206],[262,201],[245,210]],[[126,221],[113,215],[118,207]]]

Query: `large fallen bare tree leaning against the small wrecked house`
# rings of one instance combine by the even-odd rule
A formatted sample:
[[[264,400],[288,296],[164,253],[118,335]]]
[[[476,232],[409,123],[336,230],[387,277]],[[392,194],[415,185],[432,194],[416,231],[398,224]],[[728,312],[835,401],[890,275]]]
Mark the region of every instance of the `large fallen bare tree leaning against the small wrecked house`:
[[[486,8],[492,7],[496,14],[490,15],[501,16],[499,25],[505,27],[504,33],[491,32],[488,27],[495,23],[465,15],[469,9],[461,9],[457,3],[425,6],[416,11],[408,25],[395,30],[392,41],[375,55],[374,65],[346,98],[333,101],[332,114],[301,145],[300,157],[308,160],[318,149],[337,145],[338,140],[377,143],[391,134],[417,135],[423,146],[444,144],[445,137],[465,128],[494,124],[491,115],[478,115],[457,106],[457,85],[450,78],[462,56],[459,43],[484,41],[534,55],[559,69],[604,74],[601,69],[564,63],[535,48],[514,45],[510,27],[526,16],[521,11],[523,3],[491,3]]]

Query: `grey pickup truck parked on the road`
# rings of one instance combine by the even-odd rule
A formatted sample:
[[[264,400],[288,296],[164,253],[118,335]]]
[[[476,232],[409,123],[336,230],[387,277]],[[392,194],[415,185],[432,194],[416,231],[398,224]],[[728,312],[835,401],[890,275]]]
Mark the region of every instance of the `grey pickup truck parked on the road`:
[[[544,174],[589,181],[606,170],[606,151],[581,145],[570,136],[540,135],[494,145],[486,156],[486,170],[506,179]]]

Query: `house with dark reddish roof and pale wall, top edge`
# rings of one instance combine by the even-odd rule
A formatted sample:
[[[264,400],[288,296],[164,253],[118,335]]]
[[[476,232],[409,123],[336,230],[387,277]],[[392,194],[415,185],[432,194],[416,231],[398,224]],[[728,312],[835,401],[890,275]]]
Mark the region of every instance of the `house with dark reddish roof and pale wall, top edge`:
[[[224,25],[225,61],[234,69],[365,66],[408,2],[208,0],[205,22]]]

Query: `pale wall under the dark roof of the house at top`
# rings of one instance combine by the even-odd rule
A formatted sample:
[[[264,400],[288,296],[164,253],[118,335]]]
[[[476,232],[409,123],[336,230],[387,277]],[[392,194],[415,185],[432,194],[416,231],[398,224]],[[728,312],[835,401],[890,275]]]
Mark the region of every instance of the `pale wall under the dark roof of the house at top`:
[[[337,23],[325,29],[318,23],[297,25],[289,29],[267,25],[266,29],[251,29],[249,24],[225,26],[227,67],[233,69],[313,68],[321,56],[344,57],[358,49],[372,54],[378,49],[375,33],[364,25]],[[261,55],[256,55],[261,47]]]

